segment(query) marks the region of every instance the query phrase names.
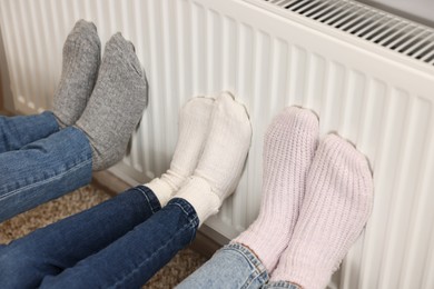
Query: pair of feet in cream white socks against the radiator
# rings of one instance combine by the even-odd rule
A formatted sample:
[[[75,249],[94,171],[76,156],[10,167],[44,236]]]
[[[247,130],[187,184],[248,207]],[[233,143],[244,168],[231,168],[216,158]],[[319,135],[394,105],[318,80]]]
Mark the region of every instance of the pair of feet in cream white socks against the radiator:
[[[154,191],[161,207],[172,197],[186,199],[201,225],[236,189],[250,141],[247,111],[231,94],[193,98],[179,114],[170,169],[145,186]]]

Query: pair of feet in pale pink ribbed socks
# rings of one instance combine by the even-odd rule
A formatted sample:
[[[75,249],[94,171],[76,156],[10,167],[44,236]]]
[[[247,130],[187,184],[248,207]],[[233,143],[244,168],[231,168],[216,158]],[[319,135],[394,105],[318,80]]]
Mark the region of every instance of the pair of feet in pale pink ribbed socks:
[[[287,108],[269,126],[256,221],[233,242],[255,252],[270,281],[325,288],[373,205],[367,159],[336,134],[318,139],[309,110]]]

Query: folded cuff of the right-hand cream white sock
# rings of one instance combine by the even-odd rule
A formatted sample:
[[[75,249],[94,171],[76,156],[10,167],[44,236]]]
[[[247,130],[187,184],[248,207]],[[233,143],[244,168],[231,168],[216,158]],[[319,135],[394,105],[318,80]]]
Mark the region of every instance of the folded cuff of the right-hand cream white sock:
[[[209,183],[199,177],[190,177],[175,197],[187,200],[195,208],[199,218],[199,227],[208,217],[217,213],[221,205]]]

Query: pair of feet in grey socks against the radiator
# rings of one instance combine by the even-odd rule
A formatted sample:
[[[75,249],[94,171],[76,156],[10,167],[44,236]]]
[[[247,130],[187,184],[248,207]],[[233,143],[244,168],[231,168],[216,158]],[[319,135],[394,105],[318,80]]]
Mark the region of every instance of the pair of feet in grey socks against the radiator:
[[[63,44],[62,72],[53,97],[61,128],[82,130],[92,169],[118,162],[148,100],[148,83],[131,42],[116,33],[101,44],[93,23],[80,20]]]

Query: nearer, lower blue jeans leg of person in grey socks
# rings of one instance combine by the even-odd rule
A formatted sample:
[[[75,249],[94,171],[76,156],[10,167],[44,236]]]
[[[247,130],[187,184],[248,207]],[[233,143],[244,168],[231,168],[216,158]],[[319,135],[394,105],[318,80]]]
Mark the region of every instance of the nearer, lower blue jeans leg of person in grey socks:
[[[0,221],[89,183],[91,166],[89,141],[76,128],[0,153]]]

